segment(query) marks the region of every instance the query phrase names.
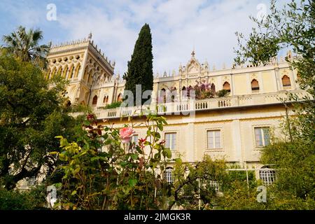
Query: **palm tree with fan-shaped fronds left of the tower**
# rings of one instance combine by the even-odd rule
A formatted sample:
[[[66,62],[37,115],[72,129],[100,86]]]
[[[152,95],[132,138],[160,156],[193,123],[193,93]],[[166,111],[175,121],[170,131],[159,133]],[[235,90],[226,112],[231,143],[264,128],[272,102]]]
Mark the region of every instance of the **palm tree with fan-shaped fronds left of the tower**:
[[[50,45],[38,45],[42,38],[43,32],[40,29],[26,31],[25,27],[20,26],[11,34],[3,36],[3,42],[6,43],[4,48],[24,62],[33,62],[45,66],[45,56],[50,49]]]

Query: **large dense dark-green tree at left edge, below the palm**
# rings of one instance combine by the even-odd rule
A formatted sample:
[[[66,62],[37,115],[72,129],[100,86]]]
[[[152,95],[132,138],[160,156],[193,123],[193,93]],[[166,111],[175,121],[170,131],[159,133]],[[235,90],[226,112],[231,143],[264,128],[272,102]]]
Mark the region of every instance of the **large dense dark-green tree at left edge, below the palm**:
[[[62,106],[66,82],[45,80],[30,62],[2,53],[0,83],[0,183],[11,189],[42,167],[52,172],[56,160],[48,153],[58,147],[55,136],[71,138],[76,120]]]

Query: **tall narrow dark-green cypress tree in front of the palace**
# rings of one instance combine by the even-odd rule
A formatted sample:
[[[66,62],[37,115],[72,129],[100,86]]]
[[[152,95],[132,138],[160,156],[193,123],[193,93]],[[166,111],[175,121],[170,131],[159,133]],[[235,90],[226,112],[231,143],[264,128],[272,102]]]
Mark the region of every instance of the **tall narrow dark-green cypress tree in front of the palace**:
[[[139,32],[139,37],[134,45],[134,52],[128,62],[128,71],[123,78],[126,80],[125,90],[134,94],[136,103],[136,85],[141,85],[141,95],[146,90],[153,90],[153,54],[151,29],[145,24]],[[148,99],[142,99],[144,104]]]

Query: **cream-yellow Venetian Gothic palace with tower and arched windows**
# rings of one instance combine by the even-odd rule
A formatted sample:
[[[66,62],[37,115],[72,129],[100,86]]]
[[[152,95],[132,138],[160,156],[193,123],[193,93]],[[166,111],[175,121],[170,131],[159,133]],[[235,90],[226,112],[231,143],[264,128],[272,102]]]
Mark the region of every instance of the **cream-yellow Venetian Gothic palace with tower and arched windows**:
[[[293,59],[290,52],[286,56]],[[59,74],[70,81],[66,95],[71,104],[90,105],[100,122],[109,120],[114,127],[129,123],[127,118],[120,119],[123,116],[133,116],[135,123],[141,123],[139,107],[105,109],[123,100],[125,81],[114,73],[115,62],[102,53],[91,35],[53,46],[48,62],[47,78]],[[183,162],[197,162],[204,155],[224,157],[231,164],[255,170],[256,177],[269,184],[274,171],[260,164],[260,152],[269,144],[269,133],[281,137],[279,125],[286,113],[293,115],[281,98],[288,92],[301,97],[306,94],[297,85],[297,78],[283,58],[272,58],[265,66],[216,69],[208,62],[200,63],[193,51],[178,71],[155,74],[151,109],[156,108],[161,92],[175,91],[174,102],[158,105],[158,113],[168,123],[161,134],[174,156],[180,155]],[[206,83],[211,92],[227,90],[228,95],[187,99],[183,93],[198,83]],[[140,125],[135,130],[133,141],[146,136],[145,127]]]

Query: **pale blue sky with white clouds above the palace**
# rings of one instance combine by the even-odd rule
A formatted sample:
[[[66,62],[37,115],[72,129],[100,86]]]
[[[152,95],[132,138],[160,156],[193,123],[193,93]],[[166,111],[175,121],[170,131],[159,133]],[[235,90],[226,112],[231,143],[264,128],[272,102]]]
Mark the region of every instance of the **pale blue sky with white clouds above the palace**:
[[[55,21],[46,19],[49,3],[57,7]],[[211,68],[215,64],[221,69],[223,63],[231,66],[235,57],[235,31],[248,34],[253,27],[248,15],[257,16],[264,7],[268,9],[269,0],[1,0],[0,35],[23,25],[43,30],[43,43],[62,43],[85,38],[92,31],[97,45],[116,61],[115,73],[123,75],[139,30],[148,23],[154,73],[178,71],[194,46],[201,63],[207,60]]]

